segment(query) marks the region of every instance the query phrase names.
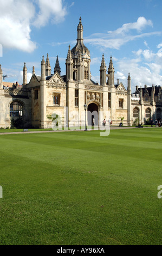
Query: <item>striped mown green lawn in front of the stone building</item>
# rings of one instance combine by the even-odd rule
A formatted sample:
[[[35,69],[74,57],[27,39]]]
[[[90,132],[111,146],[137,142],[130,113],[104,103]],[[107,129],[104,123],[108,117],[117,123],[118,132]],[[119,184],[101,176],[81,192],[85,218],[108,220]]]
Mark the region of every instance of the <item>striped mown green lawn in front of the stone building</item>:
[[[162,130],[1,135],[1,245],[161,245]]]

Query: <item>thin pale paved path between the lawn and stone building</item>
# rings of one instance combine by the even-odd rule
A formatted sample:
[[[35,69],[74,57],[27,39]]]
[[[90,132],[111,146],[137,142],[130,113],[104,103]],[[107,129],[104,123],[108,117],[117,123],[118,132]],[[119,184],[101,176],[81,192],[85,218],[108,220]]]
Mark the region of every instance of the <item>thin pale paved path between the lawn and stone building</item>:
[[[119,127],[111,126],[111,130],[123,130],[123,129],[134,129],[135,127]],[[0,135],[10,135],[10,134],[27,134],[27,133],[44,133],[44,132],[71,132],[71,131],[83,131],[83,130],[61,130],[61,131],[24,131],[24,132],[0,132]],[[90,131],[90,130],[89,130]]]

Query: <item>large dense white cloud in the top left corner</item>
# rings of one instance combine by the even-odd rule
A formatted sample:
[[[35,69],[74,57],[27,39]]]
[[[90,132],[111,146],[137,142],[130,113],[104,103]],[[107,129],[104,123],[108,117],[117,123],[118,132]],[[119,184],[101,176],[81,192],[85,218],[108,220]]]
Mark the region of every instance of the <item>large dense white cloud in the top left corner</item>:
[[[1,1],[0,43],[3,47],[27,52],[35,50],[36,43],[30,39],[30,21],[34,13],[35,8],[28,0],[23,4],[20,0]]]

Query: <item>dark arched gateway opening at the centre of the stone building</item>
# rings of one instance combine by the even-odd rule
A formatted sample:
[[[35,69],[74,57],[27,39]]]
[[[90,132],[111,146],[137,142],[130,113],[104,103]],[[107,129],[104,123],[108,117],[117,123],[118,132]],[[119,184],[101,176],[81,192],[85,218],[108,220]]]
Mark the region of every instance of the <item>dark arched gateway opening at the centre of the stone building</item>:
[[[90,103],[88,105],[88,125],[98,125],[99,123],[99,118],[98,114],[99,113],[99,107],[96,105],[94,102]],[[94,124],[93,124],[94,120]]]

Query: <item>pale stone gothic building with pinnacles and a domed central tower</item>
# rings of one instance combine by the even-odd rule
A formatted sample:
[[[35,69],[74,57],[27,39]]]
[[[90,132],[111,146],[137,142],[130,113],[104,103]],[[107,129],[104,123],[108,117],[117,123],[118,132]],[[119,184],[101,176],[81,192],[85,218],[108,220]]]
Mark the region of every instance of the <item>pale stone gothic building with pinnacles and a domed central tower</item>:
[[[87,105],[88,125],[99,124],[99,113],[102,119],[111,118],[113,125],[119,125],[118,118],[124,117],[124,125],[132,125],[138,118],[145,123],[148,118],[161,118],[161,87],[136,88],[131,93],[131,77],[128,75],[127,89],[119,82],[114,83],[114,66],[112,57],[108,70],[102,55],[100,66],[100,84],[91,80],[90,52],[83,44],[83,26],[80,18],[77,26],[77,42],[66,59],[66,75],[61,75],[57,56],[54,74],[47,54],[41,62],[41,76],[35,74],[27,83],[27,67],[23,67],[23,86],[6,88],[3,86],[3,72],[0,65],[0,127],[10,127],[11,118],[21,117],[25,126],[51,127],[47,118],[53,113],[60,114],[66,126],[75,125],[75,115],[79,125],[85,120],[84,105]],[[96,115],[93,113],[97,113]]]

